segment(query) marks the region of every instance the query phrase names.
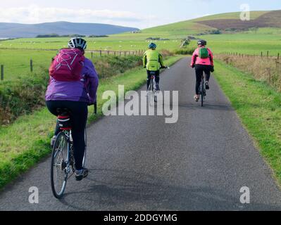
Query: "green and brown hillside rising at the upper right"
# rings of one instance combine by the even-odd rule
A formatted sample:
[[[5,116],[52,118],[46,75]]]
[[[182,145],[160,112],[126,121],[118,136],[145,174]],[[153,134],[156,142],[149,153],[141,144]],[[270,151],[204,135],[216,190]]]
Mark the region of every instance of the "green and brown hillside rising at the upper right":
[[[182,37],[211,30],[247,30],[251,27],[281,27],[280,11],[251,11],[251,20],[242,21],[240,13],[223,13],[142,30],[142,35]]]

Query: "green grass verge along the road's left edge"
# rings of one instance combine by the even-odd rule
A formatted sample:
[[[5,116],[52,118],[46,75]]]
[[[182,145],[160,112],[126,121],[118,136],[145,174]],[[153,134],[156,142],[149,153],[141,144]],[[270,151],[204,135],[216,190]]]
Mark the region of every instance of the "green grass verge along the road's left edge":
[[[173,65],[183,56],[166,60],[166,65]],[[118,91],[118,84],[125,85],[125,91],[138,89],[146,82],[143,68],[135,68],[122,75],[101,79],[98,91],[98,115],[92,115],[89,108],[89,121],[102,117],[102,93],[107,90]],[[0,128],[0,188],[27,171],[36,162],[51,153],[49,141],[54,132],[56,118],[46,108],[32,115],[18,118],[8,127]]]

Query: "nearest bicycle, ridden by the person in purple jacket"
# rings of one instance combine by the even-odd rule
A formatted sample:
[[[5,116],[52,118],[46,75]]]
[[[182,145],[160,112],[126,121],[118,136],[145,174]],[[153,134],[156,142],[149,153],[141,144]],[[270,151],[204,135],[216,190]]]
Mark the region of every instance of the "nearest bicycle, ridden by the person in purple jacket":
[[[51,190],[56,198],[62,198],[68,179],[75,173],[73,138],[71,135],[70,111],[58,108],[58,124],[61,132],[57,135],[51,155]],[[85,129],[85,167],[87,153],[87,131]],[[72,174],[70,174],[72,172]],[[61,175],[60,177],[57,177]]]

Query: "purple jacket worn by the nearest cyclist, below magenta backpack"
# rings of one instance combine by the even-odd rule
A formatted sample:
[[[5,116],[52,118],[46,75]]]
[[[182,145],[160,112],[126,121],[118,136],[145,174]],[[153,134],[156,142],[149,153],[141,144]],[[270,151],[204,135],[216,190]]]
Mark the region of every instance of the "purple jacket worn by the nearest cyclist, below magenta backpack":
[[[46,91],[46,101],[82,101],[96,102],[96,91],[99,86],[99,77],[91,60],[85,59],[82,77],[78,82],[58,82],[50,78]]]

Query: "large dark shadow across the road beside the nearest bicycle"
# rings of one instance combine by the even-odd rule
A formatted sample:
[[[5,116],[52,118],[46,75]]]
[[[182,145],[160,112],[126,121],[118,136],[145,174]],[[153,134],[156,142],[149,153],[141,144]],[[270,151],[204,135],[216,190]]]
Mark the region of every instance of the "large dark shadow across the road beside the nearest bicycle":
[[[242,205],[223,190],[175,186],[139,172],[91,169],[87,180],[87,188],[65,193],[61,203],[73,210],[280,210],[260,203]]]

